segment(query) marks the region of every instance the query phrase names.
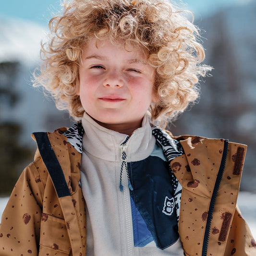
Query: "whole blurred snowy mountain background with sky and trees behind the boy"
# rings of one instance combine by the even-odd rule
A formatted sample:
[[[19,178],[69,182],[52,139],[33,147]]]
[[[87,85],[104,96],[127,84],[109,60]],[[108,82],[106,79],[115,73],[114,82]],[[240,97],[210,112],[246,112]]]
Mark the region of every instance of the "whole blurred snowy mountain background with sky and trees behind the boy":
[[[214,70],[201,83],[200,102],[170,129],[175,135],[222,137],[248,145],[238,205],[256,237],[256,0],[185,0],[184,5],[195,15],[206,63]],[[0,214],[17,177],[32,159],[36,146],[30,134],[72,123],[30,82],[40,64],[40,41],[51,13],[58,10],[59,0],[1,2]]]

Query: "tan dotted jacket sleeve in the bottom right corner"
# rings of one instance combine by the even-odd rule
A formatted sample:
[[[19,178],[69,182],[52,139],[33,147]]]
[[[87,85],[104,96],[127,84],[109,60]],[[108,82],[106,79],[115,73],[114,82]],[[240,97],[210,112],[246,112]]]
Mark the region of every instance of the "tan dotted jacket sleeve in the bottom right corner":
[[[252,233],[236,206],[234,217],[232,219],[227,245],[224,256],[255,256],[256,242]]]

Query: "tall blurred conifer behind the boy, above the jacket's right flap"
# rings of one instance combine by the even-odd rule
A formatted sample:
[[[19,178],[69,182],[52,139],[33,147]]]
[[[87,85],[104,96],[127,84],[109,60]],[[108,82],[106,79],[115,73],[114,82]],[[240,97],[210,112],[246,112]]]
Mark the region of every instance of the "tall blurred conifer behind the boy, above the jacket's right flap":
[[[235,122],[246,109],[241,108],[243,102],[240,71],[222,12],[217,14],[215,26],[212,35],[215,40],[211,54],[208,56],[211,65],[215,68],[212,71],[213,77],[209,79],[212,125],[218,131],[219,137],[241,142]]]

